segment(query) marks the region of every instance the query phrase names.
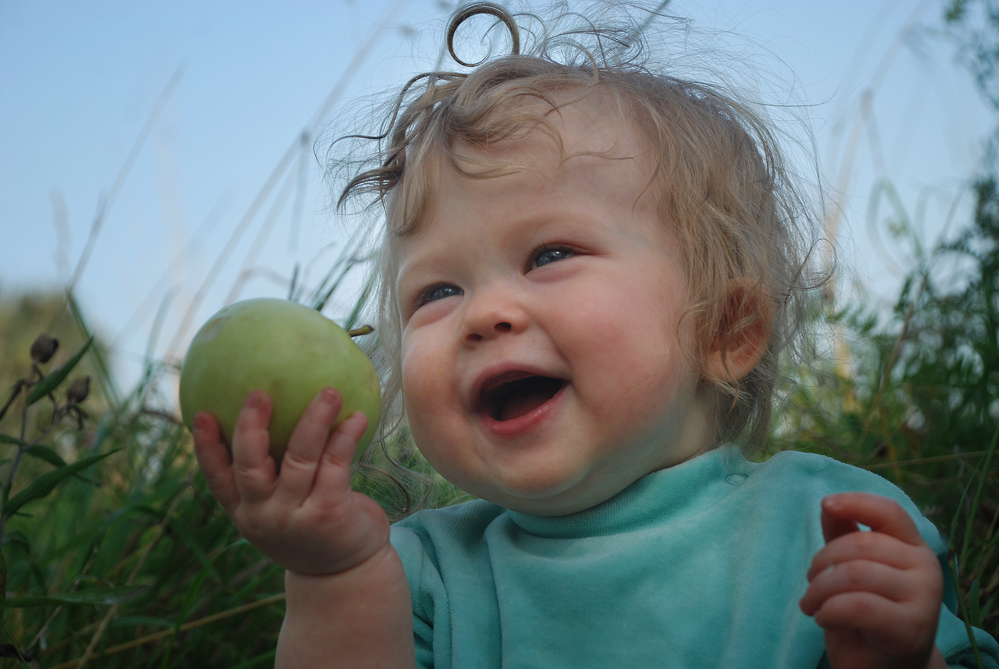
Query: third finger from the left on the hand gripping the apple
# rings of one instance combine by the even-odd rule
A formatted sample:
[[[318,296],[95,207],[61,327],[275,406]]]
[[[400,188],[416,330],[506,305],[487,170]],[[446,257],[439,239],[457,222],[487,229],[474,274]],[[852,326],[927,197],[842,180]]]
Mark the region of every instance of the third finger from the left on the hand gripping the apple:
[[[319,469],[319,459],[342,406],[340,393],[323,388],[295,425],[281,461],[281,476],[275,490],[275,495],[284,503],[298,505],[308,496]]]

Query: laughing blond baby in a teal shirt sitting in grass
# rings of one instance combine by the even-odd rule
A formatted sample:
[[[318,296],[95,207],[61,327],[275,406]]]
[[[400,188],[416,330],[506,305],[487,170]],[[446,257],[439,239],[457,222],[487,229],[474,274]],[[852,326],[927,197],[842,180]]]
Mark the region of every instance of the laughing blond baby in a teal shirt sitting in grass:
[[[279,476],[264,393],[231,458],[195,417],[211,490],[287,570],[278,665],[973,666],[946,547],[901,491],[743,455],[808,287],[767,124],[614,49],[521,54],[488,3],[450,36],[482,13],[514,54],[411,81],[345,193],[386,208],[386,403],[478,499],[390,526],[350,488],[366,418],[331,432],[334,389]]]

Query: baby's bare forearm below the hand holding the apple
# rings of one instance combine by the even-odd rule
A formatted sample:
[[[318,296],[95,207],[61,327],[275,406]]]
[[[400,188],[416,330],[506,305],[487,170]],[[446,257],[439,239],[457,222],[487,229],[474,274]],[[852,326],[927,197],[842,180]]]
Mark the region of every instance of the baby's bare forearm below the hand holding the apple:
[[[391,545],[340,574],[289,571],[285,592],[277,667],[416,666],[409,584]]]

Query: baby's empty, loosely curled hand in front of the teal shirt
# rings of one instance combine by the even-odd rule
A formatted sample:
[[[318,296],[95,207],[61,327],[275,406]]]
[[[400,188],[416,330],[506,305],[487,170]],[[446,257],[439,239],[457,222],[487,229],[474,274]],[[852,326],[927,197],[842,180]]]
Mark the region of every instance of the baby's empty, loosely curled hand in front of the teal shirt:
[[[871,531],[859,531],[857,523]],[[812,560],[800,606],[825,630],[830,664],[942,663],[934,639],[943,574],[909,514],[879,495],[830,495],[822,500],[822,533],[826,545]]]

